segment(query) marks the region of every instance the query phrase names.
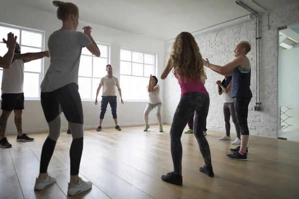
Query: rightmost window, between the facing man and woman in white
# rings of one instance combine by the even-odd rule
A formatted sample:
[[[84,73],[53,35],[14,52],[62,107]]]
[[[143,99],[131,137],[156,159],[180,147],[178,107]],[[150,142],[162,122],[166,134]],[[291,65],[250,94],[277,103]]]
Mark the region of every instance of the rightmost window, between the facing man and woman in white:
[[[148,100],[149,76],[155,74],[154,53],[121,48],[120,84],[123,100]]]

